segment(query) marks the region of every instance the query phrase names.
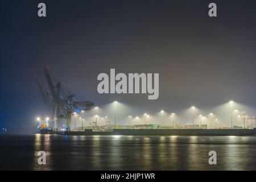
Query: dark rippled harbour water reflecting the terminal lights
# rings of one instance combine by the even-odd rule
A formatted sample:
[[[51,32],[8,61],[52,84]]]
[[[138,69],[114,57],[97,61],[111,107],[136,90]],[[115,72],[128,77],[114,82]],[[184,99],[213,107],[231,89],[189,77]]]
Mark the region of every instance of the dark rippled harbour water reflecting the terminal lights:
[[[255,170],[255,157],[256,137],[0,135],[1,170]]]

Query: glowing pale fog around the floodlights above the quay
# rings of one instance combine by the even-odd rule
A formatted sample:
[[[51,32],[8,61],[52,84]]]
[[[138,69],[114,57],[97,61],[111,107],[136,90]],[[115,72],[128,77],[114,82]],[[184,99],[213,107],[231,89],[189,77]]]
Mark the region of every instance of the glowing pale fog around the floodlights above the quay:
[[[211,122],[213,129],[230,128],[231,125],[243,128],[244,124],[246,128],[251,129],[252,126],[255,127],[255,117],[253,115],[255,110],[234,101],[213,107],[212,109],[200,109],[196,106],[191,106],[178,111],[161,108],[161,110],[158,109],[151,112],[118,101],[116,106],[114,105],[115,103],[112,102],[107,105],[95,106],[89,111],[77,109],[75,114],[72,115],[71,129],[74,129],[75,122],[76,127],[81,127],[82,125],[91,126],[93,122],[96,122],[96,118],[97,126],[106,125],[106,122],[114,125],[115,117],[116,124],[119,126],[154,124],[184,127],[185,125],[192,125],[194,120],[194,125],[207,125],[208,129],[211,128]],[[40,115],[38,117],[42,118]],[[61,121],[60,119],[60,128],[64,129],[65,127],[61,127],[61,125],[65,125],[65,120]]]

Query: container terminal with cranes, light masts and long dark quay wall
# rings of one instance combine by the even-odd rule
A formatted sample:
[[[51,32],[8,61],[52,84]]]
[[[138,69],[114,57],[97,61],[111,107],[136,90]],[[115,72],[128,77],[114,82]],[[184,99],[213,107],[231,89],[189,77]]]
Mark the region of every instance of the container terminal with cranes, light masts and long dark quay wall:
[[[225,135],[256,135],[256,128],[253,127],[253,121],[255,122],[255,117],[251,117],[251,127],[245,126],[246,118],[245,111],[242,111],[241,118],[243,118],[243,127],[233,126],[232,127],[212,127],[208,129],[207,125],[172,125],[172,126],[161,126],[161,125],[116,125],[116,117],[114,125],[110,125],[110,122],[107,121],[106,125],[98,126],[97,125],[97,116],[96,122],[91,122],[90,126],[75,126],[71,127],[72,116],[76,116],[76,109],[81,108],[81,112],[90,110],[94,103],[92,101],[84,100],[84,98],[78,96],[72,90],[68,89],[62,85],[55,78],[51,77],[49,74],[49,68],[44,69],[44,75],[46,76],[47,84],[49,86],[49,92],[44,92],[42,85],[40,84],[39,78],[35,76],[36,82],[39,87],[40,94],[43,98],[44,104],[46,105],[47,112],[49,117],[46,119],[37,118],[39,122],[38,133],[40,134],[59,134],[59,135],[155,135],[155,136],[167,136],[167,135],[212,135],[212,136],[225,136]],[[57,82],[53,84],[53,80]],[[117,101],[115,101],[116,104]],[[232,104],[233,101],[230,101]],[[195,107],[191,107],[192,112]],[[234,110],[236,111],[236,110]],[[163,111],[161,111],[163,112]],[[233,112],[233,111],[232,111]],[[212,113],[210,113],[212,114]],[[131,116],[130,116],[131,117]],[[175,113],[171,114],[171,117],[175,117]],[[204,118],[200,115],[201,118]],[[232,117],[232,115],[231,115]],[[50,119],[53,118],[53,119]],[[201,119],[200,118],[200,119]],[[60,129],[59,121],[65,120],[65,128]],[[82,121],[83,123],[83,121]],[[174,122],[173,122],[174,123]]]

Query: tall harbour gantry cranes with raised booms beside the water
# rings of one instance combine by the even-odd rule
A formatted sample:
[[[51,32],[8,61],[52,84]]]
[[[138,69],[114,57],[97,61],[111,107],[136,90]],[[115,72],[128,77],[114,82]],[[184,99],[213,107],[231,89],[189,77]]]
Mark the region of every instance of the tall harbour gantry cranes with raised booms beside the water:
[[[54,129],[58,129],[59,119],[65,119],[67,122],[66,130],[70,130],[71,117],[75,109],[81,108],[82,110],[90,110],[94,103],[90,101],[85,101],[82,97],[78,96],[77,94],[66,88],[55,78],[51,77],[49,74],[48,67],[44,69],[44,75],[46,76],[46,80],[54,104],[51,104],[51,102],[49,102],[51,101],[51,98],[49,98],[49,93],[47,93],[48,99],[46,94],[44,94],[38,77],[36,77],[36,82],[38,83],[40,93],[43,97],[44,103],[46,104],[49,114],[54,115]],[[52,80],[57,81],[56,86],[53,85]]]

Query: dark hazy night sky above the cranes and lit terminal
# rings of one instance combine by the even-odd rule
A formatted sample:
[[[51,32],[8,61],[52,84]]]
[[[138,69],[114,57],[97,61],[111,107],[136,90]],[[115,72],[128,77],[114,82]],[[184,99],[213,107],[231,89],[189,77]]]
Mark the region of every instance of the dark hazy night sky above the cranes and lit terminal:
[[[38,3],[47,17],[38,17]],[[208,16],[210,2],[217,18]],[[118,100],[152,110],[229,100],[256,105],[255,1],[3,1],[1,125],[35,123],[46,108],[34,76],[44,67],[101,106]],[[159,98],[98,94],[97,75],[159,73]]]

